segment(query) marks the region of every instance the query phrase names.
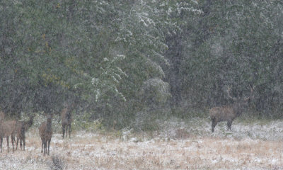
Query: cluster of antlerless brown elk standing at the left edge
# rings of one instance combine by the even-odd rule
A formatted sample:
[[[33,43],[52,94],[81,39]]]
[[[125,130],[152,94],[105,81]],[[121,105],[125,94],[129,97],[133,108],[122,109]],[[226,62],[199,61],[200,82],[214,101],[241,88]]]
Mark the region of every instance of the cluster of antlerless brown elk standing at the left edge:
[[[67,106],[62,110],[62,131],[63,138],[66,131],[69,132],[69,137],[71,137],[71,111],[74,108],[74,104]],[[0,147],[2,152],[3,139],[7,140],[7,152],[9,152],[9,137],[11,136],[11,142],[13,145],[14,151],[14,142],[16,142],[16,149],[18,149],[18,141],[20,141],[21,150],[25,150],[25,132],[33,125],[33,115],[30,115],[30,120],[21,121],[21,120],[5,120],[5,114],[3,111],[0,111]],[[42,122],[38,128],[40,139],[41,139],[41,152],[43,154],[50,154],[50,142],[53,135],[52,130],[52,118],[53,114],[47,115],[47,120]],[[17,138],[17,140],[16,140]]]

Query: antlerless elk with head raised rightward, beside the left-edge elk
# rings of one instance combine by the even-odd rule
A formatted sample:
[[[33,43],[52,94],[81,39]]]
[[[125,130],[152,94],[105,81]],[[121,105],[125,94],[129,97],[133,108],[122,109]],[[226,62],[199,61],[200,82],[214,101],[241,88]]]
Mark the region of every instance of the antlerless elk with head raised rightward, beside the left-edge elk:
[[[18,121],[16,124],[16,135],[17,135],[17,143],[16,149],[18,149],[18,140],[20,140],[20,146],[22,149],[22,142],[23,142],[23,150],[25,150],[25,132],[28,128],[33,125],[33,116],[30,116],[30,120],[28,121]]]

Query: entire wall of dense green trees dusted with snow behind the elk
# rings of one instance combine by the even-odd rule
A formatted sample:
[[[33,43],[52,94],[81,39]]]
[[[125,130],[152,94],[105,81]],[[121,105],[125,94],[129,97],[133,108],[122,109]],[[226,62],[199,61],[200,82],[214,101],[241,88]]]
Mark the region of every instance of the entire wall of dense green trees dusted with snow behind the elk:
[[[246,96],[283,111],[283,3],[232,0],[0,2],[0,107],[76,113],[120,127],[191,116]],[[146,119],[145,119],[146,120]]]

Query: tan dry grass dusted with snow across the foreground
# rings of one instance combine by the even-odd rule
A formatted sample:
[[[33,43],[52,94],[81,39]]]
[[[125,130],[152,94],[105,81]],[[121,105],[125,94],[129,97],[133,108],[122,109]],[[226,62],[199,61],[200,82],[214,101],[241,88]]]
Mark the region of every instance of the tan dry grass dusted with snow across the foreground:
[[[50,156],[43,157],[40,137],[29,132],[25,152],[7,153],[4,142],[0,169],[283,169],[281,140],[181,136],[131,142],[83,132],[62,140],[55,134]]]

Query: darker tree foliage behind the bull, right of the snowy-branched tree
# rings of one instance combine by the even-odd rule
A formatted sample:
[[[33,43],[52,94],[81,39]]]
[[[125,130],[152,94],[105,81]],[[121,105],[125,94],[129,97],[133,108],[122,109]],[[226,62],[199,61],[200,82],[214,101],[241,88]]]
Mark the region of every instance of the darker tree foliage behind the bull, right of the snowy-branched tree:
[[[180,107],[202,109],[228,103],[226,86],[233,86],[233,96],[247,96],[255,85],[253,109],[279,118],[282,2],[200,1],[200,8],[195,27],[187,26],[191,36],[179,40],[185,44],[181,64],[172,70],[178,67],[184,81],[173,98],[180,98]]]

